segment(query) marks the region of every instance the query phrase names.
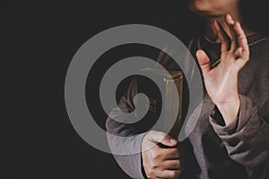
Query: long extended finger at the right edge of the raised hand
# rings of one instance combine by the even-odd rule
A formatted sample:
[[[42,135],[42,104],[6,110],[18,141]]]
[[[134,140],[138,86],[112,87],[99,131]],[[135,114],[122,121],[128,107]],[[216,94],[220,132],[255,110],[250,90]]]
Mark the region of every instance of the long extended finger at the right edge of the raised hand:
[[[247,37],[245,35],[244,30],[242,29],[240,23],[238,21],[234,24],[234,31],[237,35],[239,41],[239,47],[242,47],[242,58],[248,60],[249,58],[249,47],[247,43]]]

